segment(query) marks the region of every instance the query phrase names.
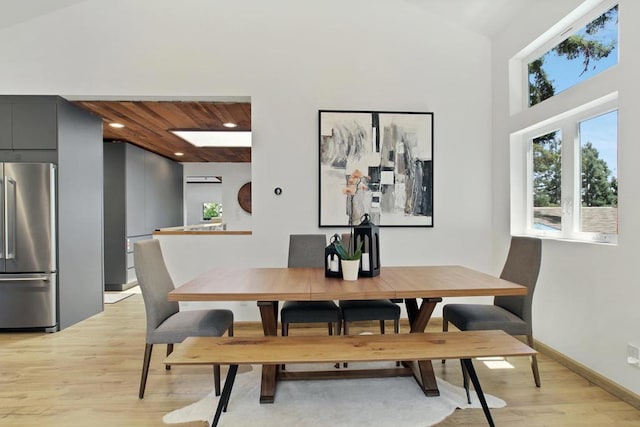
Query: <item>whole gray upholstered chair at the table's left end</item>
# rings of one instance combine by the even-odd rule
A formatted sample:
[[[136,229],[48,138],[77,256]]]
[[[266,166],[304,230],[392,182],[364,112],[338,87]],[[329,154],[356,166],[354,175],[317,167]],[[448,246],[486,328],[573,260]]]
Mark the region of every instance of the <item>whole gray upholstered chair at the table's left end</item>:
[[[219,337],[228,331],[233,335],[233,313],[230,310],[184,310],[177,302],[168,301],[173,281],[162,257],[158,240],[144,240],[133,245],[138,284],[147,313],[147,337],[138,397],[144,397],[149,362],[154,344],[167,344],[167,355],[173,344],[187,337]],[[166,369],[171,369],[169,365]],[[216,395],[220,394],[220,365],[213,367]]]

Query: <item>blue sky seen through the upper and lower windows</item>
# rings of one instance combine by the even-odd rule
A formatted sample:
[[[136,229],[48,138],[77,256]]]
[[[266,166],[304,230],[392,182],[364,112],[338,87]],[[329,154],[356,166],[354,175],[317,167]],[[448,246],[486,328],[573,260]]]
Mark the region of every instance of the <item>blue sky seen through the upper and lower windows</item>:
[[[578,34],[584,34],[581,30]],[[599,31],[597,40],[604,44],[609,44],[612,40],[618,39],[617,16],[610,20],[607,26]],[[608,57],[599,61],[591,61],[589,69],[582,73],[584,65],[582,58],[567,60],[550,51],[544,57],[543,69],[547,72],[551,80],[555,93],[574,86],[590,77],[610,68],[618,63],[618,46]],[[582,73],[582,74],[581,74]],[[618,139],[618,115],[616,112],[595,117],[582,122],[580,126],[581,142],[591,142],[598,150],[600,158],[607,162],[613,176],[618,174],[617,160],[617,139]]]

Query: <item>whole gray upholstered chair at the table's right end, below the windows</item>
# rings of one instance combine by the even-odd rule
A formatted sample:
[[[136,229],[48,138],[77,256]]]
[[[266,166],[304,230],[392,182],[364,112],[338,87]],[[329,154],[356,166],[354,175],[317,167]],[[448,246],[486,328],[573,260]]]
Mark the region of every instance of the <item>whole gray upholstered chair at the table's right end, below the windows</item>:
[[[442,330],[449,323],[462,331],[502,329],[510,335],[524,335],[533,347],[531,305],[542,261],[542,242],[533,237],[512,237],[511,247],[500,277],[526,286],[527,295],[498,296],[493,305],[446,304],[442,310]],[[531,356],[531,369],[537,387],[540,387],[538,360]],[[465,382],[466,382],[465,376]]]

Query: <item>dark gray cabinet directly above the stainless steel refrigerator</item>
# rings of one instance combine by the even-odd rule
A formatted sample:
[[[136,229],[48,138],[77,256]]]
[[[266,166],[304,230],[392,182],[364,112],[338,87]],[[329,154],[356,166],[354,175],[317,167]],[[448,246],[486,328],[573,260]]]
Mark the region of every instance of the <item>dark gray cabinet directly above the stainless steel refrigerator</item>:
[[[55,150],[59,98],[10,96],[0,105],[0,149]]]

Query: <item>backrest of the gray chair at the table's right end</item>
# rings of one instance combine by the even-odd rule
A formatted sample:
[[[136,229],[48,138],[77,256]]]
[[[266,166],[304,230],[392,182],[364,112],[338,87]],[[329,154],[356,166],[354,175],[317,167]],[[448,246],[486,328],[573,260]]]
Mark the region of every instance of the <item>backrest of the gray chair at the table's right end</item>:
[[[534,237],[512,237],[500,278],[526,286],[527,295],[498,296],[494,304],[527,322],[531,328],[531,304],[542,261],[542,242]]]

